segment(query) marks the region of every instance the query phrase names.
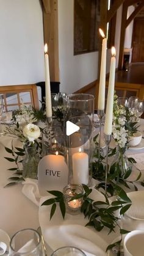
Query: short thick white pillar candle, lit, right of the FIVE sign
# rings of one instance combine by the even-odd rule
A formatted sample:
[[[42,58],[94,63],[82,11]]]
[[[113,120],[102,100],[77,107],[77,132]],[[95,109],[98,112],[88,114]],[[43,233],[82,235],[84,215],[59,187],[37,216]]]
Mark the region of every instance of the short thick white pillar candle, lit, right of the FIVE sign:
[[[73,183],[88,185],[88,155],[87,153],[79,152],[74,153],[73,159]]]

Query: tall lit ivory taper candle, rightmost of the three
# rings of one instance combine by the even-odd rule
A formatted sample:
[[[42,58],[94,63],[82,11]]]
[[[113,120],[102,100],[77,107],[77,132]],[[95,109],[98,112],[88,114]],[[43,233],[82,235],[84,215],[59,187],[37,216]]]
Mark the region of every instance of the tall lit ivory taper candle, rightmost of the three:
[[[115,87],[115,48],[112,47],[112,58],[110,61],[109,88],[107,94],[106,120],[104,124],[104,134],[112,134],[112,117],[113,117],[113,95]]]

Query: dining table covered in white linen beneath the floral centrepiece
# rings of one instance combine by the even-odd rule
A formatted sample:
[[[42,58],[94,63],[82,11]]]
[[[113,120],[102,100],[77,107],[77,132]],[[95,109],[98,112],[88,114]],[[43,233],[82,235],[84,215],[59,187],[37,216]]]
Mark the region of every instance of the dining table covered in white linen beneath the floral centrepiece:
[[[143,119],[140,120],[139,130],[144,134]],[[52,251],[57,249],[57,247],[67,245],[81,246],[80,249],[84,250],[86,255],[103,256],[109,254],[109,252],[106,253],[106,247],[117,238],[117,229],[108,235],[106,228],[101,230],[101,232],[97,232],[92,227],[85,227],[88,220],[84,219],[82,213],[77,215],[67,213],[63,221],[62,216],[60,216],[59,207],[57,207],[56,214],[49,221],[51,206],[41,207],[41,203],[47,196],[41,197],[38,195],[37,180],[31,181],[28,179],[13,186],[5,186],[10,182],[9,178],[13,174],[13,171],[8,169],[15,166],[15,163],[5,159],[5,157],[10,157],[5,147],[12,147],[12,140],[14,147],[21,147],[18,137],[12,137],[9,134],[0,137],[0,230],[4,230],[12,238],[18,230],[27,228],[37,230],[40,226],[46,246],[48,247],[48,255],[51,255]],[[127,153],[129,156],[141,156],[141,179],[143,180],[144,160],[142,161],[142,159],[144,159],[144,139],[142,138],[140,146],[129,148]],[[101,192],[95,189],[95,180],[92,180],[92,188],[92,196],[95,200],[103,198]],[[143,191],[144,187],[138,185],[138,189]],[[134,191],[133,188],[127,189],[126,192],[131,192],[132,190]],[[32,197],[29,196],[31,193],[33,194]],[[134,227],[134,229],[136,228]],[[131,229],[133,228],[131,227]],[[142,229],[144,229],[144,221]]]

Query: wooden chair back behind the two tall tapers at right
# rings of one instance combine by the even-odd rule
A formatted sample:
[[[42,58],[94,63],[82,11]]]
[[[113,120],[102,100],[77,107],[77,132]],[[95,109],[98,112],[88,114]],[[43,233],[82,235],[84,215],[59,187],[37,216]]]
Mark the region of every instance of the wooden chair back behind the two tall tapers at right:
[[[109,82],[106,81],[106,99],[108,91]],[[95,94],[95,109],[98,107],[98,89],[99,84],[96,84],[96,94]],[[127,82],[115,82],[115,91],[118,97],[131,97],[136,96],[140,100],[144,99],[144,84],[129,84]]]

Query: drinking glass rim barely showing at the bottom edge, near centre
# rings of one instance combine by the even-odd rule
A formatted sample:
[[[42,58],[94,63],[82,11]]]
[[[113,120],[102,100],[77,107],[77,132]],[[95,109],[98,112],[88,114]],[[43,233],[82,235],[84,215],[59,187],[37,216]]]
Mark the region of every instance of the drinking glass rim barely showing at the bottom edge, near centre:
[[[51,256],[85,256],[84,252],[82,252],[80,249],[72,246],[65,246],[57,249],[54,251]]]

